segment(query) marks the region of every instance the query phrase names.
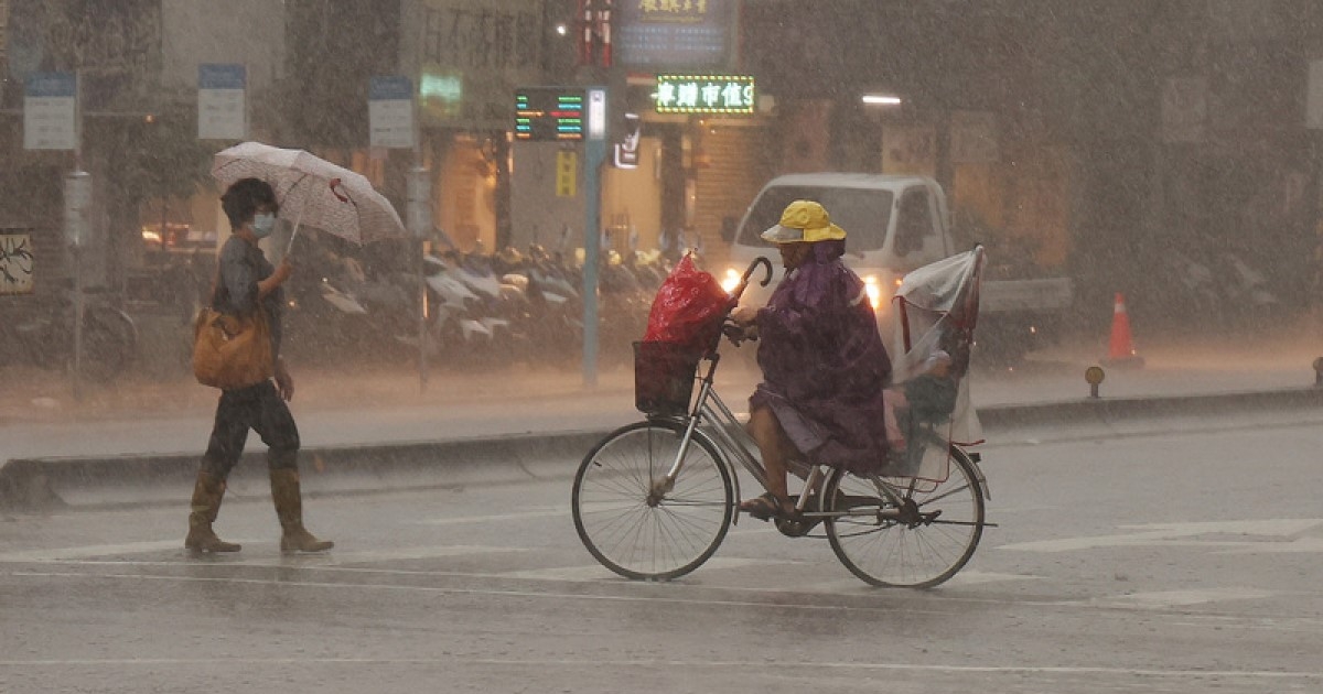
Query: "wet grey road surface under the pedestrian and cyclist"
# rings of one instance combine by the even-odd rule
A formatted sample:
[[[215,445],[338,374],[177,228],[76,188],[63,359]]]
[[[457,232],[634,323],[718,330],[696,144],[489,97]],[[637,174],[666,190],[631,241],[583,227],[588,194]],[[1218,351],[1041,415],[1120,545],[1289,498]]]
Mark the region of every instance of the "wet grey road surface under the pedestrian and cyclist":
[[[926,592],[747,518],[681,580],[617,579],[568,480],[311,498],[323,557],[280,557],[261,490],[208,560],[184,500],[13,516],[0,691],[1319,691],[1323,418],[1237,424],[986,447],[1000,526]]]

